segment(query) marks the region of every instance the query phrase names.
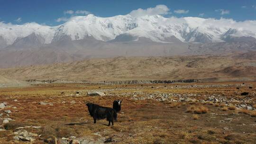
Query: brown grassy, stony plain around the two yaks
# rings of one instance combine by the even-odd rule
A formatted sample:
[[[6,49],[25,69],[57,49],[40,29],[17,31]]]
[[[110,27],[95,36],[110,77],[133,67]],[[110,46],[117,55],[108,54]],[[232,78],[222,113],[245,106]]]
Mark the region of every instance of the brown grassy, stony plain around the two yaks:
[[[122,100],[114,126],[93,124],[85,103],[112,107],[114,99]],[[39,84],[0,88],[2,102],[0,122],[15,121],[2,124],[0,144],[256,144],[256,82]],[[35,141],[14,140],[24,126],[41,126],[24,128]]]

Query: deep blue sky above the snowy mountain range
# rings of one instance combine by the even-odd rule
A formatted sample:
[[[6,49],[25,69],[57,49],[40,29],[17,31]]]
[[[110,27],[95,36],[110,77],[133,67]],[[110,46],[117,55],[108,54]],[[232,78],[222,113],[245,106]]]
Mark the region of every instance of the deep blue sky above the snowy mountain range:
[[[256,0],[0,0],[0,21],[56,26],[76,15],[111,17],[156,5],[169,9],[165,17],[256,20]]]

